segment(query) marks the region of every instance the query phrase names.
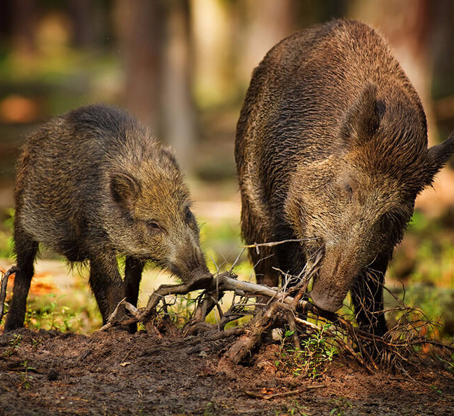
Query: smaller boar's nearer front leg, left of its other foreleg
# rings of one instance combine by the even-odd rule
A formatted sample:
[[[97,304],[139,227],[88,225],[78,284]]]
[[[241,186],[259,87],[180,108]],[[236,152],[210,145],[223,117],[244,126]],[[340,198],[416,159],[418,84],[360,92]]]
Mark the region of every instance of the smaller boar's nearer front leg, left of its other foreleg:
[[[105,325],[109,315],[124,297],[124,285],[114,255],[103,254],[90,260],[89,283]]]

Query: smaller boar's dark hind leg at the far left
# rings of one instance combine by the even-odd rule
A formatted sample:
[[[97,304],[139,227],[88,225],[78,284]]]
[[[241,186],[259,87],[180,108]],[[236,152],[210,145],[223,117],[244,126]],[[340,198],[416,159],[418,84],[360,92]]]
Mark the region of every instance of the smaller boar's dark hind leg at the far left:
[[[33,262],[38,252],[38,243],[18,227],[15,228],[14,242],[18,271],[15,273],[13,299],[6,315],[6,331],[24,325],[27,295],[34,274]]]

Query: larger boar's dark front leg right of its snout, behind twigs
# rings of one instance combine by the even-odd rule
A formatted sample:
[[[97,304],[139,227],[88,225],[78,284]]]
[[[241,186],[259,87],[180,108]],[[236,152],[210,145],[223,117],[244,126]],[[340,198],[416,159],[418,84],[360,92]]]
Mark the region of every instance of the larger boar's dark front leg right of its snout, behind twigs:
[[[375,335],[387,332],[383,311],[383,285],[389,258],[379,258],[370,264],[352,288],[352,301],[356,322],[363,328],[373,330]]]

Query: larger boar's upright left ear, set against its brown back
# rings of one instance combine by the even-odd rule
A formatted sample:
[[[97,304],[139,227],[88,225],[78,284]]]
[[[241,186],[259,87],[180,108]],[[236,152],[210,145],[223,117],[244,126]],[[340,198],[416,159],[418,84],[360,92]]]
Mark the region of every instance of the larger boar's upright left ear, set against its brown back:
[[[379,113],[383,106],[383,102],[377,101],[377,86],[368,83],[342,119],[342,140],[349,147],[366,142],[380,127]]]

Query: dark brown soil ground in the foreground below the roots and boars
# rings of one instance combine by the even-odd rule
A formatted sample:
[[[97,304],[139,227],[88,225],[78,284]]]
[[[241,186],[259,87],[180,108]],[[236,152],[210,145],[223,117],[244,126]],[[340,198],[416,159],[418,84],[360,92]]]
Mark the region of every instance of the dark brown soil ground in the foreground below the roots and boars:
[[[454,415],[454,379],[443,370],[368,375],[340,357],[310,380],[276,371],[276,344],[248,365],[220,366],[231,343],[123,330],[8,333],[0,415]],[[298,392],[265,400],[245,391]]]

